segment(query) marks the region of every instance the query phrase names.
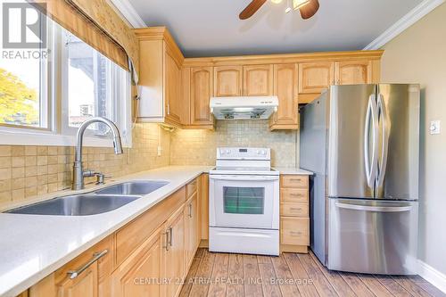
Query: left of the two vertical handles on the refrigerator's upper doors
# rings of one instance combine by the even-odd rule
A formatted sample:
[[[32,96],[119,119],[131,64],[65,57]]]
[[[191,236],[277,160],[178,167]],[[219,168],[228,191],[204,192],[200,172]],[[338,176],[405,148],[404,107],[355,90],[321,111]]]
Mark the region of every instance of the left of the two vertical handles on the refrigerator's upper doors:
[[[367,184],[369,187],[375,187],[375,179],[376,179],[376,167],[377,167],[377,146],[376,140],[378,138],[378,112],[376,106],[376,96],[375,94],[370,95],[368,97],[368,108],[366,115],[366,125],[364,126],[364,163],[366,166],[366,176],[367,176]],[[372,160],[370,161],[370,128],[372,128]]]

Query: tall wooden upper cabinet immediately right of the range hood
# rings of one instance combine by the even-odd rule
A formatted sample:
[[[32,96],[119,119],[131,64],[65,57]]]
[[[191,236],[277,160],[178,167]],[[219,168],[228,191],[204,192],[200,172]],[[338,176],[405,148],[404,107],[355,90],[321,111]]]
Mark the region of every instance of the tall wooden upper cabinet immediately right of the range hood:
[[[274,65],[273,94],[279,106],[269,120],[269,129],[297,129],[298,118],[298,65],[296,63]]]

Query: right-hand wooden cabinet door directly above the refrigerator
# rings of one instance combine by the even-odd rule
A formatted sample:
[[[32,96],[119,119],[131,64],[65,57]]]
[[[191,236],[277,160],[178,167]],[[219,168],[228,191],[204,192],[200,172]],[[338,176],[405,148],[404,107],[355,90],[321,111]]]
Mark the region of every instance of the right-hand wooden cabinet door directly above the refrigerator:
[[[372,83],[371,61],[336,62],[336,85]]]

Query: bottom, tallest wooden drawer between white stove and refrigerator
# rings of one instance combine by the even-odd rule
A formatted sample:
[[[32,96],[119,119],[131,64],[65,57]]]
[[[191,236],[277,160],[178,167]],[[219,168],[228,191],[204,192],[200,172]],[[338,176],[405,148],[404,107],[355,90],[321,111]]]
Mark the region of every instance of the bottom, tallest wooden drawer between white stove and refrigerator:
[[[294,245],[310,244],[310,219],[280,218],[280,243]]]

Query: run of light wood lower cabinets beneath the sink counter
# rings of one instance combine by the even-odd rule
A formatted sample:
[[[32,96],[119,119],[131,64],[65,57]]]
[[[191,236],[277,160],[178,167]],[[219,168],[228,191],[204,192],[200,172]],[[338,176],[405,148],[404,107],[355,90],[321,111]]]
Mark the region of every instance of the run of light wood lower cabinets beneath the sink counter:
[[[201,240],[201,184],[197,177],[21,296],[177,297]]]

